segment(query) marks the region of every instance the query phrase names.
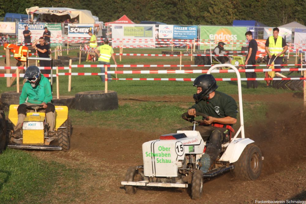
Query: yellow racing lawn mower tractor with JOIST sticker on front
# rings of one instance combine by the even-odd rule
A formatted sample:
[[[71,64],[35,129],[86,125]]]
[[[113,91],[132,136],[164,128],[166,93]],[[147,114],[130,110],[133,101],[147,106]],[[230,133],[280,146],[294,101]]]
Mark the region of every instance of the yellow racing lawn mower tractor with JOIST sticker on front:
[[[50,137],[48,135],[48,123],[46,114],[37,112],[42,109],[42,105],[27,106],[30,110],[27,113],[21,133],[20,139],[13,139],[13,127],[17,124],[18,105],[9,106],[9,121],[8,121],[8,139],[9,148],[21,149],[44,149],[44,150],[63,150],[68,151],[70,147],[70,134],[71,134],[71,120],[68,116],[67,106],[55,106],[55,135]],[[9,125],[10,122],[13,125]]]

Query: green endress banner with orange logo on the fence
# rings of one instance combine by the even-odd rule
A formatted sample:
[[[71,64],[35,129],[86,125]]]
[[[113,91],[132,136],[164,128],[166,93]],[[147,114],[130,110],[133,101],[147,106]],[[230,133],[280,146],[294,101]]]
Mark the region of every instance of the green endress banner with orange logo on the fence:
[[[247,27],[232,27],[232,26],[200,26],[200,40],[205,43],[201,45],[200,49],[209,49],[210,42],[224,42],[231,43],[237,41],[246,41],[245,32]],[[241,50],[241,46],[246,44],[239,44],[240,46],[226,46],[225,49]],[[213,46],[213,45],[212,45]],[[211,47],[214,49],[215,47]]]

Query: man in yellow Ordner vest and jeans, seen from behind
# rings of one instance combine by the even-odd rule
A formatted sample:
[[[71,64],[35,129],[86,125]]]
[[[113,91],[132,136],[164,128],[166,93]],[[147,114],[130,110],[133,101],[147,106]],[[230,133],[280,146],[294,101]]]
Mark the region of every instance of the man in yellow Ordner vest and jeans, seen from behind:
[[[111,46],[108,45],[109,40],[106,38],[104,39],[104,45],[100,45],[95,49],[95,53],[99,56],[99,64],[100,65],[110,65],[110,57],[113,58],[115,65],[117,62],[115,60],[114,50]],[[100,67],[101,73],[105,73],[105,68]],[[107,71],[110,71],[110,67],[107,67]],[[107,73],[108,81],[111,80],[110,73]],[[105,75],[101,75],[102,82],[105,82]]]

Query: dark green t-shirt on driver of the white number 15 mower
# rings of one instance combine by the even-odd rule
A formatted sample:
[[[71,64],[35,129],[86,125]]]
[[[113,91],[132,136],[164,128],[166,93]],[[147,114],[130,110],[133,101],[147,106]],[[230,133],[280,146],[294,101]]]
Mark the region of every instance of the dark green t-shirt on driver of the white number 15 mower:
[[[204,113],[215,118],[223,118],[230,116],[237,119],[237,103],[229,95],[215,91],[215,96],[211,99],[201,100],[194,104],[191,108],[196,109],[196,112]]]

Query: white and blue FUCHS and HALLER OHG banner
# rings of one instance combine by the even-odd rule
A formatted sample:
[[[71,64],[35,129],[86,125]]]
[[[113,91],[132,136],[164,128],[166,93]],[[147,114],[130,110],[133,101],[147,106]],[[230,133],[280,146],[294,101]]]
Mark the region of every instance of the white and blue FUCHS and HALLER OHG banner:
[[[159,25],[159,38],[197,39],[198,26]]]

